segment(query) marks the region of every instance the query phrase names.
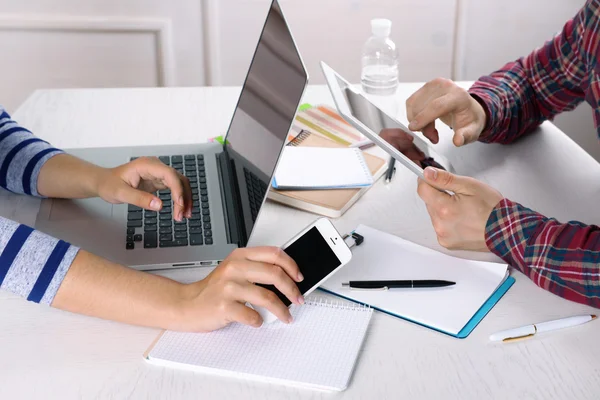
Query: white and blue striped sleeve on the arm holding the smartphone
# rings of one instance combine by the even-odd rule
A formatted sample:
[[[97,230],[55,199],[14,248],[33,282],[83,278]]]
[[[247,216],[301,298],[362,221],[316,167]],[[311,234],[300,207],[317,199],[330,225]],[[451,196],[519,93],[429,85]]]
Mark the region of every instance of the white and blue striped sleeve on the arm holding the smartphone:
[[[0,289],[51,305],[79,249],[0,217]]]

